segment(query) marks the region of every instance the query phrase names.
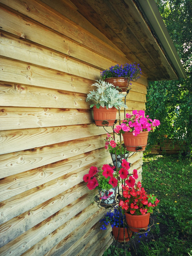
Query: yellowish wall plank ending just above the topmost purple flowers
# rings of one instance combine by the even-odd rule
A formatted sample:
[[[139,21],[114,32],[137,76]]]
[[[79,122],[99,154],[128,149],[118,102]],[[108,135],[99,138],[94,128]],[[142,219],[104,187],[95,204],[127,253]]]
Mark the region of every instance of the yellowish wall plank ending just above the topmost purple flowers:
[[[95,67],[100,66],[105,69],[111,66],[110,60],[83,47],[75,41],[71,41],[64,34],[50,30],[46,26],[42,27],[41,24],[33,22],[28,17],[22,17],[15,12],[7,10],[3,6],[0,7],[0,24],[4,31],[44,45],[45,47],[89,63]]]

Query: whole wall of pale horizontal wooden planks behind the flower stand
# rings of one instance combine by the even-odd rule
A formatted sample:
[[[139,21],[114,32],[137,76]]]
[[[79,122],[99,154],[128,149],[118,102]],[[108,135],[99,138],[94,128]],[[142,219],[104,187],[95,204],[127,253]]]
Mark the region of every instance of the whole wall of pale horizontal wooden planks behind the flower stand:
[[[128,59],[59,3],[0,0],[1,256],[100,256],[111,243],[82,179],[111,162],[85,99],[100,71]],[[144,75],[132,84],[128,111],[145,109],[146,86]],[[130,158],[139,180],[142,156]]]

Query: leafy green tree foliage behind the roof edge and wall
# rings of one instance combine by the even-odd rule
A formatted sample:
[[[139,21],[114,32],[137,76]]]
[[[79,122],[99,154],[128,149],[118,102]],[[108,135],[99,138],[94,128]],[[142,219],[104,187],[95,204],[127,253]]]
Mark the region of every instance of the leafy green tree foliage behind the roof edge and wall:
[[[187,78],[149,83],[147,113],[159,119],[159,138],[186,142],[184,151],[192,152],[192,0],[156,0],[161,16],[176,47]],[[155,144],[157,134],[150,134]],[[182,153],[182,152],[181,152]]]

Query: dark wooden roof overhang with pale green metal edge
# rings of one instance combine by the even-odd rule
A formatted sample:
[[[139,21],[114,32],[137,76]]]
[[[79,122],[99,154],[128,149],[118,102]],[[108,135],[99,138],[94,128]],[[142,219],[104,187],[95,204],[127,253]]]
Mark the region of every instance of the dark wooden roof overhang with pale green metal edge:
[[[130,62],[140,63],[148,80],[186,76],[154,0],[71,2]]]

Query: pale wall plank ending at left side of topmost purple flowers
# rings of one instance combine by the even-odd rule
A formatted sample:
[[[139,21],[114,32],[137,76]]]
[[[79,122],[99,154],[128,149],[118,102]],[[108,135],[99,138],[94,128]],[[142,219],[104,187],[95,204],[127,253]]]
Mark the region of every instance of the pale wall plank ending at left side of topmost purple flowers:
[[[68,87],[70,80],[72,88],[73,86],[79,87],[76,80],[82,80],[81,84],[84,87],[83,85],[87,84],[87,80],[83,80],[83,78],[97,80],[100,77],[101,70],[88,65],[88,63],[80,62],[55,50],[46,49],[32,41],[10,35],[2,30],[0,43],[2,46],[0,47],[0,55],[2,56],[65,72],[63,83],[67,84]],[[67,73],[71,74],[72,77],[68,78]]]

